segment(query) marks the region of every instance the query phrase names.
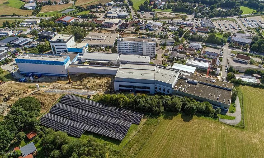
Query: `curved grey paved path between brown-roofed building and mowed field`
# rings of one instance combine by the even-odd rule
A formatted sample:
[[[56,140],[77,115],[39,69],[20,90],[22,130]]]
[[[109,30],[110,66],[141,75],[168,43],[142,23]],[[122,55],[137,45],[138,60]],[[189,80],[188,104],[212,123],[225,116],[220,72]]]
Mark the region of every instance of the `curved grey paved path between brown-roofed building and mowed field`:
[[[229,124],[229,125],[237,125],[239,124],[239,122],[241,121],[242,115],[241,115],[241,107],[240,107],[240,103],[239,103],[239,99],[237,97],[237,99],[235,100],[235,104],[237,105],[236,107],[236,111],[234,113],[227,113],[227,116],[235,116],[234,120],[227,120],[227,119],[222,119],[219,118],[219,121],[225,123],[225,124]]]

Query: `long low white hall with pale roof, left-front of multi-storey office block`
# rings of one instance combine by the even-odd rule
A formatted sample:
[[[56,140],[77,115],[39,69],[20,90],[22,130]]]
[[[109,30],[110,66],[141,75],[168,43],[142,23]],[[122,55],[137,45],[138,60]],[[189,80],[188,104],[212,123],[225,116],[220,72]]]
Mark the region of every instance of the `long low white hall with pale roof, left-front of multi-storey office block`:
[[[81,57],[81,60],[82,60],[82,62],[117,65],[118,60],[119,60],[119,54],[86,52]]]

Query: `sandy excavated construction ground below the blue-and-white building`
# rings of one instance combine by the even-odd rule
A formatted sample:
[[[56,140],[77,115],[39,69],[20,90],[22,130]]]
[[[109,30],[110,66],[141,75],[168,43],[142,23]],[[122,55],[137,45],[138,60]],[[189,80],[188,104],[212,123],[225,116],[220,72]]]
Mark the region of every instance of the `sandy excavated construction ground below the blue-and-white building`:
[[[83,74],[71,75],[73,84],[67,84],[67,77],[41,77],[39,83],[32,82],[15,82],[9,81],[0,85],[0,108],[6,108],[0,115],[6,115],[10,107],[19,98],[34,96],[41,102],[41,113],[46,112],[54,102],[64,93],[75,93],[87,96],[87,94],[105,93],[114,90],[114,76]],[[40,91],[36,90],[35,85],[39,84]],[[70,91],[69,91],[70,90]],[[11,96],[10,100],[6,96]],[[3,103],[3,105],[1,104]],[[1,107],[1,105],[3,107]],[[8,105],[4,106],[4,105]]]

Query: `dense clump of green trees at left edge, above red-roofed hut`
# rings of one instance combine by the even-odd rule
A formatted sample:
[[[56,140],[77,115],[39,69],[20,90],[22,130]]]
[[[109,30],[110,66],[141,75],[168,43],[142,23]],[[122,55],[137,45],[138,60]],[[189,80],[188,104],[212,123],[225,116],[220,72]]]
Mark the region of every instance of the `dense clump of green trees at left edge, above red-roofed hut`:
[[[0,151],[4,151],[15,138],[15,142],[23,138],[22,129],[39,125],[36,117],[40,115],[40,101],[34,97],[25,97],[16,101],[10,112],[0,122]]]

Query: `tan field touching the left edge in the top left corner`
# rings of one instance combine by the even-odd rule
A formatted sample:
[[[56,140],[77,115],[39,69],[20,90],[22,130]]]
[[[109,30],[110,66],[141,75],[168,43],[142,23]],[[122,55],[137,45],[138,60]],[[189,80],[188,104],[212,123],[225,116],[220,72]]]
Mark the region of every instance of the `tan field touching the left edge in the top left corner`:
[[[14,7],[6,6],[6,5],[0,5],[0,15],[11,15],[11,14],[17,14],[17,15],[31,15],[32,11],[31,10],[22,10],[22,9],[17,9]]]

